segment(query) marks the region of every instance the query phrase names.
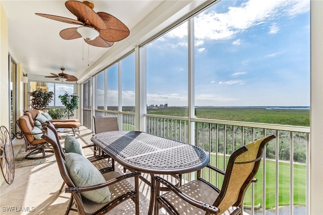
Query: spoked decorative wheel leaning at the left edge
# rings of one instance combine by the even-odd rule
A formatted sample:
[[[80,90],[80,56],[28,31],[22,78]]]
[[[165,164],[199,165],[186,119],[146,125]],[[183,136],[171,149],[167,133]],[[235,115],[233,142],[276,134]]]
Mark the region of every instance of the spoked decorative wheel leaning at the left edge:
[[[15,156],[10,134],[5,126],[0,127],[0,166],[8,184],[14,181]]]

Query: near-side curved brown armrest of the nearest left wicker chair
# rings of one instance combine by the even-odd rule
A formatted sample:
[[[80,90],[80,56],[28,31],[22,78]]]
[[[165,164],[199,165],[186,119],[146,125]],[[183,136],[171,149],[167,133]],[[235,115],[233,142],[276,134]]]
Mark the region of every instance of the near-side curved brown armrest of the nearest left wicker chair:
[[[67,187],[65,189],[66,193],[78,193],[78,192],[84,192],[84,191],[90,191],[90,190],[97,190],[100,189],[102,187],[106,187],[112,184],[117,183],[118,181],[122,181],[131,177],[136,177],[139,178],[139,176],[141,175],[141,173],[135,172],[135,173],[129,173],[127,175],[122,175],[119,176],[117,178],[111,179],[109,181],[106,181],[104,183],[101,184],[97,184],[97,185],[93,185],[93,186],[87,186],[87,187]]]

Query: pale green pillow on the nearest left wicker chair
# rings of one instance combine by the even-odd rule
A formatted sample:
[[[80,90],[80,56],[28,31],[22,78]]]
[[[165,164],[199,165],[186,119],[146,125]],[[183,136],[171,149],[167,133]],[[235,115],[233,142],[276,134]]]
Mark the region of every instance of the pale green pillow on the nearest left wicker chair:
[[[66,153],[65,164],[73,183],[78,187],[93,186],[105,182],[100,171],[80,154]],[[97,203],[111,201],[109,187],[81,192],[81,195]]]

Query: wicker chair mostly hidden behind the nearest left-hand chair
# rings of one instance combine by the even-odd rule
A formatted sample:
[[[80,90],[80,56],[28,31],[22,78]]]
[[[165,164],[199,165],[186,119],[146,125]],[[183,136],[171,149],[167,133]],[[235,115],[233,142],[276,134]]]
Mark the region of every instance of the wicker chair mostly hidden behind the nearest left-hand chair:
[[[54,134],[55,134],[55,137],[56,137],[56,141],[57,143],[60,143],[60,138],[59,138],[59,135],[58,135],[58,132],[55,128],[55,126],[50,122],[50,121],[47,121],[46,122],[46,128],[47,129],[50,129]],[[71,152],[75,152],[75,153],[80,153],[82,154],[81,150],[83,150],[84,148],[89,148],[89,147],[93,147],[94,144],[91,144],[91,145],[85,145],[83,147],[81,147],[81,145],[79,144],[79,142],[75,142],[75,143],[72,143],[72,144],[76,144],[70,148],[73,148],[73,151],[70,149]],[[68,152],[69,150],[65,150],[61,144],[58,144],[58,148],[60,149],[61,151],[61,154],[62,154],[62,157],[65,159],[65,153]],[[95,155],[95,156],[87,156],[86,157],[88,160],[90,160],[90,162],[102,173],[107,173],[107,172],[110,172],[110,171],[115,171],[115,165],[114,163],[113,164],[110,164],[109,162],[109,158],[110,156],[107,155],[107,154],[101,154],[101,155]],[[63,188],[64,188],[64,185],[65,185],[65,182],[63,181],[63,184],[61,186],[61,189],[60,189],[60,193],[62,192]]]

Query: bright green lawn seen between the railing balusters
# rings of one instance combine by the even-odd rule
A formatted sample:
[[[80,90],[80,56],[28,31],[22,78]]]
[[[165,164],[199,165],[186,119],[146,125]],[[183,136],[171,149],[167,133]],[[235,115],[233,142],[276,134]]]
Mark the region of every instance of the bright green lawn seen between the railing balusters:
[[[227,156],[227,161],[229,156]],[[210,157],[210,164],[216,166],[216,155],[212,154]],[[223,156],[219,155],[218,167],[223,167]],[[306,166],[300,164],[294,164],[294,205],[305,205],[306,197]],[[208,178],[208,172],[205,171],[204,177]],[[255,177],[258,181],[254,184],[254,205],[260,204],[262,207],[262,162],[260,164],[258,173]],[[275,207],[275,178],[276,178],[276,162],[275,160],[266,160],[266,208]],[[219,177],[219,184],[222,184],[223,177]],[[289,162],[279,162],[279,205],[289,205],[290,204],[290,163]],[[211,173],[211,183],[216,184],[216,174]],[[248,188],[244,204],[251,204],[251,185]]]

